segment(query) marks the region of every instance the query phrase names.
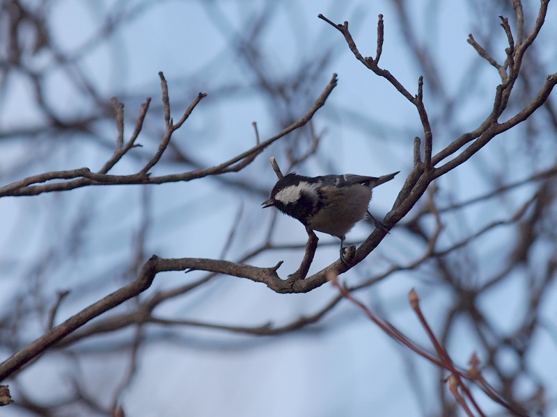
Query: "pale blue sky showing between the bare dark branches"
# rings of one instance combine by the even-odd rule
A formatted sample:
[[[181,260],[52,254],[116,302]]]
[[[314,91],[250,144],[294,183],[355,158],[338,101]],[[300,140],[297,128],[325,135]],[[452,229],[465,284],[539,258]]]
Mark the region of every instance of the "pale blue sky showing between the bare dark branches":
[[[131,133],[134,117],[147,95],[152,97],[153,107],[155,104],[159,106],[159,71],[164,72],[168,80],[175,120],[197,92],[208,94],[173,137],[181,146],[195,147],[196,155],[206,166],[216,165],[251,147],[255,142],[253,121],[258,122],[262,139],[279,130],[272,117],[272,104],[253,93],[250,87],[253,80],[246,79],[242,63],[238,62],[227,43],[231,34],[241,31],[247,19],[258,15],[258,10],[267,2],[208,1],[207,6],[198,1],[164,1],[157,6],[145,2],[147,9],[139,7],[134,18],[122,24],[110,42],[97,42],[100,22],[104,21],[109,10],[114,7],[134,8],[142,3],[66,0],[54,1],[49,10],[49,27],[56,43],[61,51],[82,54],[77,65],[87,74],[100,99],[109,102],[111,96],[117,96],[125,103],[126,116],[129,117],[127,134]],[[351,172],[379,176],[400,170],[394,181],[374,191],[372,211],[382,217],[391,209],[411,169],[413,140],[414,136],[421,136],[421,124],[415,109],[389,83],[357,62],[340,33],[318,19],[317,14],[323,13],[338,23],[348,20],[364,56],[375,55],[377,15],[384,15],[381,66],[389,69],[411,92],[416,92],[420,73],[405,49],[400,28],[393,24],[392,3],[348,1],[342,6],[334,0],[276,3],[273,13],[278,17],[265,28],[265,44],[261,45],[266,58],[274,64],[267,70],[280,79],[313,51],[331,48],[334,59],[319,76],[317,85],[320,88],[309,92],[314,99],[331,75],[338,74],[338,86],[315,117],[316,130],[326,129],[320,149],[304,165],[303,172],[299,169],[299,173]],[[524,3],[529,7],[527,10],[538,6],[537,1]],[[216,6],[219,12],[211,11],[212,6]],[[557,22],[557,13],[554,4],[550,5],[549,17],[540,44],[551,47],[540,48],[540,51],[547,54],[548,62],[556,63],[554,22]],[[471,15],[463,1],[416,1],[414,4],[412,24],[421,34],[418,42],[427,42],[436,51],[435,58],[444,68],[441,77],[448,95],[457,95],[462,89],[462,80],[466,80],[471,65],[484,67],[478,73],[480,77],[469,84],[472,97],[477,100],[471,99],[458,115],[459,122],[465,126],[463,129],[475,128],[490,111],[492,99],[489,97],[493,96],[499,82],[496,72],[477,57],[466,38],[469,33],[485,28],[485,24],[499,26],[499,23],[497,15]],[[496,49],[497,44],[492,45],[499,51],[498,58],[503,56],[505,42],[503,31],[500,32],[496,38],[500,42],[499,49]],[[38,68],[50,65],[48,56],[38,54],[33,59]],[[64,81],[66,76],[52,73],[47,99],[59,114],[77,117],[95,104],[84,102],[81,93]],[[230,93],[227,88],[235,83],[240,88]],[[29,98],[32,95],[29,84],[11,76],[3,88],[8,89],[8,97],[11,97],[0,104],[3,130],[22,126],[31,128],[44,122]],[[436,117],[442,117],[444,109],[428,101],[428,89],[425,85],[425,103],[430,120],[436,120]],[[224,101],[219,99],[220,95],[230,95],[233,99]],[[301,100],[292,104],[292,113],[303,115],[309,108],[308,102]],[[145,138],[160,137],[164,129],[162,113],[157,108],[148,116]],[[361,113],[367,116],[366,129],[361,129],[363,121],[356,116]],[[440,144],[454,136],[450,131],[435,133]],[[29,175],[82,166],[98,170],[111,154],[109,145],[115,138],[113,124],[104,128],[102,140],[61,138],[64,145],[56,147],[48,158],[33,158],[32,166],[15,172]],[[496,138],[469,165],[441,179],[441,190],[457,195],[457,201],[483,194],[487,188],[480,180],[482,171],[478,166],[489,161],[490,155],[510,152],[509,149],[518,147],[519,140],[512,132]],[[145,145],[144,152],[153,151],[157,146],[155,140],[142,140],[142,136],[139,142]],[[15,140],[0,143],[2,172],[13,172],[12,168],[26,154],[39,155],[48,146],[41,145],[40,141],[32,149],[22,147]],[[268,159],[276,156],[279,165],[286,165],[280,152],[279,145],[269,147],[255,163],[236,174],[237,178],[255,181],[259,190],[270,190],[276,177]],[[540,167],[551,165],[554,163],[552,159],[548,155],[547,161],[540,160]],[[123,158],[114,173],[130,173],[137,166],[136,160]],[[172,165],[153,170],[157,175],[179,171],[178,165],[175,170]],[[513,179],[523,177],[520,167],[508,174]],[[3,177],[3,183],[17,178],[17,174],[11,179]],[[10,300],[15,294],[28,291],[18,281],[29,273],[26,261],[47,256],[46,248],[53,237],[70,236],[80,216],[93,219],[88,222],[83,240],[80,240],[80,255],[57,265],[56,273],[49,275],[42,284],[42,289],[50,293],[53,300],[56,291],[61,289],[79,291],[79,297],[70,295],[61,306],[58,318],[63,320],[122,286],[125,281],[118,278],[123,275],[121,263],[123,259],[129,259],[134,250],[132,242],[143,216],[141,201],[144,193],[150,197],[152,220],[146,241],[149,256],[154,253],[166,258],[218,258],[230,224],[242,210],[242,233],[237,236],[228,255],[229,259],[235,259],[261,243],[265,238],[262,230],[272,218],[270,211],[259,208],[265,199],[262,195],[240,195],[226,190],[219,181],[205,179],[153,186],[147,191],[141,187],[119,186],[2,199],[0,213],[5,220],[0,225],[1,259],[13,279],[3,278],[0,305],[3,304],[2,298]],[[524,193],[528,193],[528,188],[521,188],[513,194],[517,199],[514,207],[519,206]],[[509,206],[513,203],[511,199]],[[482,210],[486,210],[486,206],[469,208],[466,211],[469,223],[462,224],[462,228],[480,229],[485,218]],[[348,238],[359,242],[370,231],[368,225],[359,224]],[[480,269],[471,279],[481,280],[494,263],[503,261],[497,245],[505,240],[506,233],[498,230],[496,234],[478,240]],[[418,246],[405,239],[405,235],[393,229],[366,261],[343,278],[355,283],[387,268],[390,260],[402,261],[418,256]],[[281,217],[274,241],[304,243],[304,229],[295,220]],[[297,268],[299,256],[300,252],[269,252],[253,264],[275,265],[283,260],[280,272],[287,275]],[[322,236],[310,272],[329,265],[335,256],[338,256],[338,241]],[[190,275],[157,275],[149,291],[173,288],[198,277],[201,275],[195,272]],[[97,286],[95,283],[100,279],[103,285]],[[486,314],[499,322],[501,329],[511,329],[513,317],[524,309],[515,297],[523,285],[517,277],[504,288],[496,288],[486,300]],[[399,272],[359,297],[366,304],[375,306],[405,334],[428,346],[423,329],[407,304],[407,294],[414,287],[423,297],[425,313],[432,325],[439,325],[442,318],[438,313],[449,304],[451,295],[446,288],[433,286],[424,275],[416,277]],[[189,295],[187,302],[183,298],[171,302],[166,311],[157,313],[228,325],[256,326],[269,321],[283,325],[301,315],[315,313],[335,294],[334,288],[327,284],[309,294],[278,295],[261,284],[223,277]],[[556,294],[548,299],[553,301],[547,302],[547,318],[551,320],[557,313]],[[40,334],[40,318],[28,326],[31,341]],[[448,348],[455,362],[466,366],[476,343],[468,336],[466,323],[459,331],[463,336],[455,335]],[[423,393],[427,393],[438,384],[437,373],[432,372],[434,367],[425,360],[411,360],[409,352],[391,341],[348,302],[304,332],[277,337],[256,338],[203,329],[171,331],[155,326],[149,327],[149,332],[160,341],[151,343],[140,354],[138,373],[122,398],[126,416],[416,416],[437,411],[435,402],[420,398],[420,393],[411,389],[413,381],[400,378],[400,375],[417,375]],[[130,330],[118,336],[93,338],[77,348],[93,351],[103,343],[116,343],[119,338],[132,334]],[[540,378],[547,381],[549,392],[555,393],[555,342],[547,334],[540,335],[536,352],[532,366],[538,370]],[[20,375],[23,386],[26,382],[33,386],[36,398],[41,398],[42,393],[45,400],[52,400],[53,395],[54,398],[63,398],[65,390],[71,387],[74,364],[68,364],[56,353],[51,354],[49,360],[43,359]],[[91,354],[87,361],[79,362],[79,377],[95,398],[103,395],[108,398],[120,375],[125,373],[128,360],[127,354],[113,354],[108,359],[104,354]],[[512,353],[509,366],[512,366]],[[526,383],[524,389],[527,391],[532,387]],[[483,395],[478,395],[478,399],[489,415],[501,410]],[[2,411],[6,416],[22,415],[21,411],[10,407]]]

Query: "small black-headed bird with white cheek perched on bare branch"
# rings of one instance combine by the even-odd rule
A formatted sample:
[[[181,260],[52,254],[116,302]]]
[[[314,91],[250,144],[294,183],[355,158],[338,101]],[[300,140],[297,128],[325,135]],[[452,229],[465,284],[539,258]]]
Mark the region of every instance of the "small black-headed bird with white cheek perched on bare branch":
[[[340,239],[340,260],[345,260],[343,247],[346,234],[366,213],[375,227],[388,232],[385,225],[368,211],[372,189],[391,181],[398,172],[382,177],[363,175],[323,175],[304,177],[291,172],[279,179],[263,208],[274,206],[304,224],[306,229],[322,231]]]

